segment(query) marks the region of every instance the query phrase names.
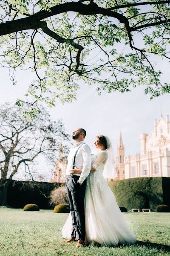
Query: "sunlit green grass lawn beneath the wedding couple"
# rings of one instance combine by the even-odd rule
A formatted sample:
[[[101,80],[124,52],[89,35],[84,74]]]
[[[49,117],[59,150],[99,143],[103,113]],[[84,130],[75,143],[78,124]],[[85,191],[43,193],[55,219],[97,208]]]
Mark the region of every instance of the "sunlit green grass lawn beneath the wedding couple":
[[[0,208],[0,256],[165,256],[170,255],[170,213],[124,213],[137,243],[131,246],[76,249],[63,244],[61,229],[68,214],[51,210],[24,212]]]

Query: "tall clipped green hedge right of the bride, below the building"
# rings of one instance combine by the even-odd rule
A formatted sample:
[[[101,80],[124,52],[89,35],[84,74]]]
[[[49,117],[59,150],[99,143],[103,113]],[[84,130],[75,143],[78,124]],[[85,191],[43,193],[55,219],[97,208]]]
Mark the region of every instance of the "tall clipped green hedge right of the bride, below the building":
[[[159,204],[170,207],[170,178],[148,177],[130,178],[108,183],[119,207],[150,208],[155,210]]]

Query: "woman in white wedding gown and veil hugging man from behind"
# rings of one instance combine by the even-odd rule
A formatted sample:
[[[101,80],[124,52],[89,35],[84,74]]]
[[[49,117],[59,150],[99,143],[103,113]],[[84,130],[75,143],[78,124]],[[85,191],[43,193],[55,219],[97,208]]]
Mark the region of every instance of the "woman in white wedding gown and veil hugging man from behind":
[[[105,246],[134,244],[136,237],[129,229],[116,198],[105,177],[116,177],[113,149],[108,137],[100,135],[94,143],[99,152],[92,156],[91,173],[87,178],[85,191],[85,244],[94,242]],[[72,175],[81,169],[70,171]],[[64,238],[71,237],[71,213],[62,228]]]

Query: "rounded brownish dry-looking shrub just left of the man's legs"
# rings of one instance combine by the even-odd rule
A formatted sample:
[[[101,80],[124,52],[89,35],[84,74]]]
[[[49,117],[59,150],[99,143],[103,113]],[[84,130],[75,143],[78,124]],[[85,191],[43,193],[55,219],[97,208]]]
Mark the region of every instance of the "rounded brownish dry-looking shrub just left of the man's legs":
[[[50,204],[53,206],[57,204],[68,204],[68,196],[65,186],[61,186],[51,191]]]

